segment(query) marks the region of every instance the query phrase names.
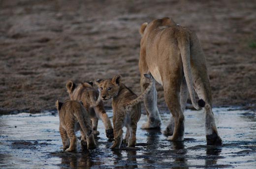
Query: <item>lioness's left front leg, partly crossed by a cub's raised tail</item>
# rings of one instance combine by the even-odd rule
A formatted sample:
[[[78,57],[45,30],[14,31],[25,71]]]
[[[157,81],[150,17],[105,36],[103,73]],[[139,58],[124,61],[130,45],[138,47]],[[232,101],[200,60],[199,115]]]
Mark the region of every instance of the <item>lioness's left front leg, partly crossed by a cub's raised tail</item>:
[[[146,83],[145,77],[141,75],[140,79],[141,91],[143,92],[148,84]],[[147,111],[147,121],[142,124],[142,129],[153,129],[153,128],[160,128],[161,126],[161,117],[157,107],[157,90],[155,86],[155,82],[148,92],[148,94],[144,98],[144,105]]]

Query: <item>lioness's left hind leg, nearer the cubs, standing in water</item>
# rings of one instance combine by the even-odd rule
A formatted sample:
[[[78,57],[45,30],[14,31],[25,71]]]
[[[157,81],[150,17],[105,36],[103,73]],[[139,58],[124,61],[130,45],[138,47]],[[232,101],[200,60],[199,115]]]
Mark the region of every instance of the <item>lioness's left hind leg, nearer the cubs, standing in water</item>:
[[[170,141],[184,140],[185,118],[180,105],[179,87],[180,85],[175,80],[163,87],[165,102],[174,118],[173,135],[167,138]]]

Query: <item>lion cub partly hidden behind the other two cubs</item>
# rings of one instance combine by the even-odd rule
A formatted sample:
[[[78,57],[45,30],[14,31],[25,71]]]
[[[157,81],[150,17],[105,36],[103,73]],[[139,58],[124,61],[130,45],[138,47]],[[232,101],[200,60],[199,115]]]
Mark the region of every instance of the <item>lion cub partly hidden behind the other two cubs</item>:
[[[98,93],[93,87],[93,83],[90,82],[77,85],[72,81],[68,81],[66,83],[66,88],[71,100],[81,100],[83,102],[84,107],[90,114],[94,134],[99,134],[99,132],[97,131],[99,117],[100,119],[102,119],[102,122],[105,126],[107,138],[113,139],[113,127],[104,109],[102,101],[99,101],[96,105],[93,103],[94,99],[98,97]]]

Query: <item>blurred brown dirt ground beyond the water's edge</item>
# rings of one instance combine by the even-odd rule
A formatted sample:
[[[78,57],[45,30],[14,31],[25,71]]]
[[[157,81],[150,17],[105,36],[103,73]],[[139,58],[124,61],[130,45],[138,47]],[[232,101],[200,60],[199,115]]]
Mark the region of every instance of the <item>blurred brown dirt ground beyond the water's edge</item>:
[[[53,110],[68,80],[121,74],[139,94],[138,29],[166,16],[197,33],[213,105],[256,110],[255,11],[255,0],[0,0],[0,113]]]

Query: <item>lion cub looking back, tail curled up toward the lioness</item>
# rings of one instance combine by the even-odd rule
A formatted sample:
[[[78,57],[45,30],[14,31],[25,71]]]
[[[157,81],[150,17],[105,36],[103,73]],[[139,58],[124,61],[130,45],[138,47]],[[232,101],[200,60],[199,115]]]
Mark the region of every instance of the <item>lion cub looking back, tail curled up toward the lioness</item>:
[[[137,122],[141,115],[140,102],[150,91],[153,85],[151,75],[144,75],[150,80],[147,89],[137,97],[125,84],[121,83],[121,75],[112,79],[96,80],[96,85],[100,89],[99,98],[103,101],[113,98],[113,125],[114,125],[114,143],[111,149],[119,149],[123,141],[123,127],[127,127],[125,142],[128,147],[134,147],[136,144]]]

